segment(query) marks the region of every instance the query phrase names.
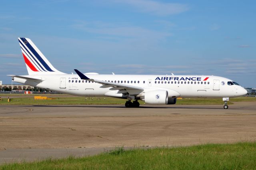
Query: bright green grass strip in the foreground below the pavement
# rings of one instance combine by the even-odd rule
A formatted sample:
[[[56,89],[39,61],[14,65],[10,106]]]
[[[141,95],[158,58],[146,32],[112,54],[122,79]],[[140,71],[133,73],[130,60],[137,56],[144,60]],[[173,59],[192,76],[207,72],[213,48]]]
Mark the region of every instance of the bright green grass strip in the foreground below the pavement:
[[[116,151],[118,150],[118,151]],[[252,170],[256,168],[256,143],[206,144],[192,147],[132,149],[117,148],[96,156],[11,163],[2,170],[54,169],[205,169]]]

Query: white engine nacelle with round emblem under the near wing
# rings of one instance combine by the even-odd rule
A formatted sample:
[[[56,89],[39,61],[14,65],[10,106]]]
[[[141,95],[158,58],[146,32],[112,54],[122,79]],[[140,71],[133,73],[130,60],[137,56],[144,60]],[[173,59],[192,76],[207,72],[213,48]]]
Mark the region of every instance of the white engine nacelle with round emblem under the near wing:
[[[140,96],[140,100],[143,100],[146,104],[160,105],[168,103],[168,92],[166,90],[152,90],[144,92],[144,95]]]

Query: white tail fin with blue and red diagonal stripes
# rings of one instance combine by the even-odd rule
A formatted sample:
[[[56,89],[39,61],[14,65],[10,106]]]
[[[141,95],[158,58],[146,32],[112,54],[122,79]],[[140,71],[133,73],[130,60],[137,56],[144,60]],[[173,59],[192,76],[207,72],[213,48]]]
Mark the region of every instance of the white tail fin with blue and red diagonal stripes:
[[[28,74],[65,74],[58,71],[28,38],[18,38]]]

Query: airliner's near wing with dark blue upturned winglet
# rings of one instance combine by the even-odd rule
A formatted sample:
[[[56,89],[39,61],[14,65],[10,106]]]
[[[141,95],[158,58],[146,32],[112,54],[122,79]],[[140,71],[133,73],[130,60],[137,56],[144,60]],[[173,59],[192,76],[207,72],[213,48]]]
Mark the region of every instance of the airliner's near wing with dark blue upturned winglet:
[[[100,88],[110,88],[110,90],[119,90],[118,94],[130,94],[130,95],[138,95],[141,92],[144,91],[143,88],[138,87],[138,86],[131,86],[128,84],[120,84],[120,83],[113,83],[113,82],[106,82],[103,80],[94,80],[94,79],[90,79],[87,76],[85,76],[82,72],[74,69],[75,72],[78,74],[78,76],[82,79],[82,80],[88,80],[88,81],[92,81],[92,82],[96,82],[96,83],[100,83],[102,84],[102,86]]]

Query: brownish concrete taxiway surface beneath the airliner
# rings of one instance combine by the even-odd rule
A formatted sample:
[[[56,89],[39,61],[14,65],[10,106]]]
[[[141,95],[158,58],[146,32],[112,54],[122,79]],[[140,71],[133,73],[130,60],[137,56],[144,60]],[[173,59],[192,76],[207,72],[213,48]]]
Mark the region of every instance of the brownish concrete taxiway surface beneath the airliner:
[[[0,163],[83,156],[118,146],[255,139],[256,102],[236,102],[229,109],[222,105],[0,106]]]

